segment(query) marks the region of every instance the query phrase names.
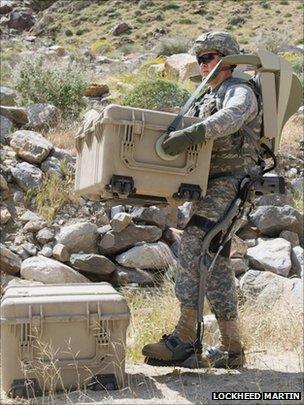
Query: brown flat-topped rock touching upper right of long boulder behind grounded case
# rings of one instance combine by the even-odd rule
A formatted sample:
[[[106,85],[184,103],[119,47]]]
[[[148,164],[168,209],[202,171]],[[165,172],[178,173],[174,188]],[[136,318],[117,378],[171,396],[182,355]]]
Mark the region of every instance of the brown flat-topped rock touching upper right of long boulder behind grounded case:
[[[111,260],[96,254],[72,254],[70,263],[77,270],[98,275],[111,274],[116,269]]]

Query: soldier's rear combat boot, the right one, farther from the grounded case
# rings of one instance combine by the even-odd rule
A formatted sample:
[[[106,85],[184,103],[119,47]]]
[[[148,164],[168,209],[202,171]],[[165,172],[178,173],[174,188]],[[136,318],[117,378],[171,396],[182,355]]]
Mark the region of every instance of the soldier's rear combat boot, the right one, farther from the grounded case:
[[[209,361],[210,367],[240,368],[245,364],[244,348],[241,343],[238,322],[218,321],[220,329],[220,345],[209,347],[203,360]]]

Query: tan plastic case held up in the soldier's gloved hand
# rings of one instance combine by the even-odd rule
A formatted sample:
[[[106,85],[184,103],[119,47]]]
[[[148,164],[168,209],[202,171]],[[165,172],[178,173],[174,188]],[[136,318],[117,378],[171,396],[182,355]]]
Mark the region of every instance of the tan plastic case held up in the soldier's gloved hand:
[[[156,151],[158,139],[175,117],[160,111],[107,106],[93,130],[76,138],[76,192],[89,197],[116,195],[172,201],[173,196],[189,199],[201,189],[204,196],[211,141],[188,148],[170,160]],[[200,121],[184,117],[180,128]],[[181,184],[186,184],[182,190]]]

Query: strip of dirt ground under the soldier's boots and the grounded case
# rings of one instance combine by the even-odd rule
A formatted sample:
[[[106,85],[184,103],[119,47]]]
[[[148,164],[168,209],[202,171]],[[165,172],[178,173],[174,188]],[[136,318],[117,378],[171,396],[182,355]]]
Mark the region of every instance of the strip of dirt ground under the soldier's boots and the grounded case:
[[[157,368],[128,363],[127,387],[120,391],[71,392],[52,399],[35,399],[33,404],[290,404],[290,401],[219,401],[214,391],[258,391],[303,393],[303,363],[294,352],[258,352],[247,355],[241,370]],[[303,394],[302,394],[303,397]],[[2,404],[16,404],[2,398]],[[292,401],[292,403],[303,403]]]

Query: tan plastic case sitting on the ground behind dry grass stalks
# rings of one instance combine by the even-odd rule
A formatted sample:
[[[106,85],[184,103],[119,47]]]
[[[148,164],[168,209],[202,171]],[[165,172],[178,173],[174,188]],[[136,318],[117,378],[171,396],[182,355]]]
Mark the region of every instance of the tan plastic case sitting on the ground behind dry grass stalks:
[[[128,305],[108,283],[7,287],[2,390],[12,397],[125,383]],[[93,385],[90,385],[90,384]]]

